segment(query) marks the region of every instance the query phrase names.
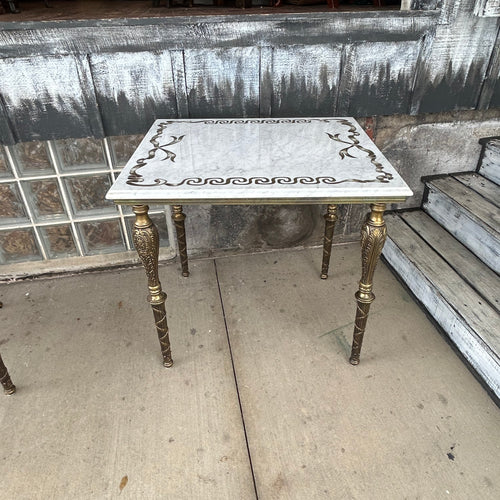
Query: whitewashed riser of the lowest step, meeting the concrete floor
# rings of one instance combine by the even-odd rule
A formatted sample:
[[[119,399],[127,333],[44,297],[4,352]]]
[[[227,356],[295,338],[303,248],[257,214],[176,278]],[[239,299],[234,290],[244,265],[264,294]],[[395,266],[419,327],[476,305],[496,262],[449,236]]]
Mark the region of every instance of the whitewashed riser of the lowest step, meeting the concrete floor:
[[[477,338],[460,314],[436,291],[390,237],[387,238],[383,255],[488,387],[500,397],[500,365],[488,346]]]

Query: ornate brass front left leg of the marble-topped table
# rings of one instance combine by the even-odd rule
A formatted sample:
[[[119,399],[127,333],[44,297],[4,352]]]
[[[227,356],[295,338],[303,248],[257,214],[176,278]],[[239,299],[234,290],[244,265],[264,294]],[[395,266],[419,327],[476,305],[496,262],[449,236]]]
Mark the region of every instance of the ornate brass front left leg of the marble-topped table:
[[[172,366],[173,361],[170,352],[167,315],[165,312],[167,294],[162,291],[158,277],[158,253],[160,249],[158,230],[148,216],[149,207],[147,205],[134,205],[133,210],[135,213],[135,224],[132,237],[148,277],[148,302],[153,308],[156,330],[158,331],[161,353],[163,355],[163,366],[168,368]]]

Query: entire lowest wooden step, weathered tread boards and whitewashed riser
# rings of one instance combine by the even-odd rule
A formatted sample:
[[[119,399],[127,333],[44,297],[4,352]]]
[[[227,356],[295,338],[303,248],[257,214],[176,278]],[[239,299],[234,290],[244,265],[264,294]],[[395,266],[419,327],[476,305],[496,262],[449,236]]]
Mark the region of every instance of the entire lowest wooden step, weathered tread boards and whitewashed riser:
[[[386,221],[385,259],[500,397],[498,278],[424,213]]]

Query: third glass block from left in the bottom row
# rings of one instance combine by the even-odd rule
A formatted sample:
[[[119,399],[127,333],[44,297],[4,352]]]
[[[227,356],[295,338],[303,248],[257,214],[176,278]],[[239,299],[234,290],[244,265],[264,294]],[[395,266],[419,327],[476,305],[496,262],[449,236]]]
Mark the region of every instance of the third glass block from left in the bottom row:
[[[78,224],[88,254],[125,251],[118,219],[81,222]]]

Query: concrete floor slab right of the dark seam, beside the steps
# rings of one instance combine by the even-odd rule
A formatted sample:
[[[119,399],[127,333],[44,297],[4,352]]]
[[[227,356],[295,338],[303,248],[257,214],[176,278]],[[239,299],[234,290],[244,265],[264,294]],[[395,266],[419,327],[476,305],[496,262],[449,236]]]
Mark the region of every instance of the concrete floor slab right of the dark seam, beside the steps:
[[[443,482],[465,497],[488,494],[484,463],[463,453],[463,477],[446,458],[449,433],[463,422],[474,428],[464,432],[469,442],[484,442],[496,463],[496,443],[469,400],[486,394],[468,369],[383,264],[352,367],[359,244],[334,247],[326,281],[320,264],[321,249],[217,260],[259,498],[384,498],[388,484],[394,498],[409,490],[436,498]],[[442,431],[436,415],[451,413],[436,393],[461,408],[458,419],[440,419]],[[408,443],[413,459],[394,460]]]

